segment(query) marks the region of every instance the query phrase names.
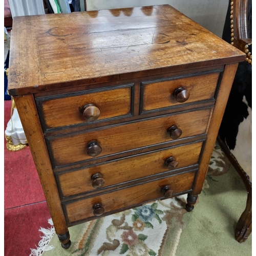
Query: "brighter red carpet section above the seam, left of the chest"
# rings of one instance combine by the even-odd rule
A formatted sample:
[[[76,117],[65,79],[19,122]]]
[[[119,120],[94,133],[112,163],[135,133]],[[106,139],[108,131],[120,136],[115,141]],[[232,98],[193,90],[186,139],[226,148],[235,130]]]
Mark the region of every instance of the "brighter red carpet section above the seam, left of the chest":
[[[5,129],[10,120],[11,100],[5,101]],[[5,140],[5,139],[4,139]],[[29,147],[5,151],[5,209],[45,201]]]

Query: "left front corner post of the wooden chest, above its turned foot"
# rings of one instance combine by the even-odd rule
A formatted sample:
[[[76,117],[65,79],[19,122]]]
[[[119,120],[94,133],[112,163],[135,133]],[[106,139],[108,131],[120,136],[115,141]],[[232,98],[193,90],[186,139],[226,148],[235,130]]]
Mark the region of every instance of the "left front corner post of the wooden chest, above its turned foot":
[[[68,232],[33,95],[14,97],[57,234]]]

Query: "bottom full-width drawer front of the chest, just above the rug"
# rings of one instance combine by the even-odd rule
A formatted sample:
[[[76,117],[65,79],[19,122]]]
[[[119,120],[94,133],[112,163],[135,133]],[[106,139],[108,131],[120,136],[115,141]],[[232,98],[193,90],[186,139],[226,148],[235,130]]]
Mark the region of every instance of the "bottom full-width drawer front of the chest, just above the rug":
[[[94,205],[101,204],[104,214],[124,207],[150,202],[164,198],[163,187],[169,186],[173,195],[182,193],[193,187],[195,171],[154,180],[152,182],[114,190],[108,194],[98,195],[92,198],[81,199],[74,202],[63,203],[68,223],[74,223],[95,217]]]

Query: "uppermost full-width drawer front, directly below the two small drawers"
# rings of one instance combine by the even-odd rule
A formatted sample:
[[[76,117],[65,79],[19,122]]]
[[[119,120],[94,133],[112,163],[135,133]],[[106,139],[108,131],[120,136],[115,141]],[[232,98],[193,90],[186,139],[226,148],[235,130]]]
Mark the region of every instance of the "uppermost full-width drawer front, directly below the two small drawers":
[[[167,131],[174,126],[182,131],[179,139],[204,134],[210,112],[211,109],[204,109],[166,115],[119,126],[109,126],[93,132],[47,138],[53,167],[172,141]],[[89,152],[93,142],[96,144],[95,152],[99,153],[97,156],[91,156]]]

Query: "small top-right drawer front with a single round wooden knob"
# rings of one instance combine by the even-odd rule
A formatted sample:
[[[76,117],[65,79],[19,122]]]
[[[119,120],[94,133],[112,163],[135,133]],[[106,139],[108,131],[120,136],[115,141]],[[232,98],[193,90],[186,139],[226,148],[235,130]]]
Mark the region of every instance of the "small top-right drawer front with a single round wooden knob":
[[[220,73],[212,73],[179,79],[171,78],[172,80],[142,82],[140,113],[213,99],[219,75]],[[179,88],[183,88],[185,91],[178,90]],[[175,92],[178,93],[176,97]],[[183,97],[187,97],[187,93],[189,93],[189,97],[185,100],[186,98],[183,99]],[[179,102],[183,101],[182,99],[185,101]]]

